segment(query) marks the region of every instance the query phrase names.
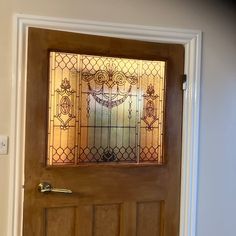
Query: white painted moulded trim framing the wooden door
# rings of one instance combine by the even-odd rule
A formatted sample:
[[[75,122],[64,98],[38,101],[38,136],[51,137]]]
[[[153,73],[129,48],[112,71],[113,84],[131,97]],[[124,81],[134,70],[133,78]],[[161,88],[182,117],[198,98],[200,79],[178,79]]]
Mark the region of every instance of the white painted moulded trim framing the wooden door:
[[[180,236],[196,235],[201,32],[32,15],[14,16],[8,236],[22,235],[28,27],[185,45]]]

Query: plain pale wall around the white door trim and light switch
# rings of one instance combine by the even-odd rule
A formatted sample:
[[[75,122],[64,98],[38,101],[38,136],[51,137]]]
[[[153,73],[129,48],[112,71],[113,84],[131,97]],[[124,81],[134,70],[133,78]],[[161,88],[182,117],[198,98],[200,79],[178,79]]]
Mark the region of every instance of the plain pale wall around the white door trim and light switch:
[[[13,13],[203,31],[197,235],[235,236],[236,6],[223,0],[1,0],[0,134],[7,135]],[[8,173],[9,156],[0,156],[0,236],[7,235]]]

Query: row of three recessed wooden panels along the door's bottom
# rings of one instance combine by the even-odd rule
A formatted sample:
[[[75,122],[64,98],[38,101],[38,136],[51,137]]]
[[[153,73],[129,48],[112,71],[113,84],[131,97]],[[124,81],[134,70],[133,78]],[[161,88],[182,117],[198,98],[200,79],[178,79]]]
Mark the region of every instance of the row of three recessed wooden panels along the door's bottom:
[[[164,201],[44,209],[45,236],[162,236]]]

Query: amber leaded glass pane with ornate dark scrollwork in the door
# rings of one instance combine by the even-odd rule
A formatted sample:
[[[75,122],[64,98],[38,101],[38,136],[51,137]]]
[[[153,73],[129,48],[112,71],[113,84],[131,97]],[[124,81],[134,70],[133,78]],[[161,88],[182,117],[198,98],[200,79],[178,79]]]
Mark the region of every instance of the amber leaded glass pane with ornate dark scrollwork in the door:
[[[50,53],[48,165],[163,163],[165,62]]]

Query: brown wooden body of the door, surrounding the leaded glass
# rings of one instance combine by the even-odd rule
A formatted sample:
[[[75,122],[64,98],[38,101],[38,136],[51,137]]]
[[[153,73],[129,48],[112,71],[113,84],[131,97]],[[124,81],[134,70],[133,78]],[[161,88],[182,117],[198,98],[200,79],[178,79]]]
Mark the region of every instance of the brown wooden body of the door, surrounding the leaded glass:
[[[163,160],[48,165],[50,51],[165,61]],[[24,236],[179,235],[183,61],[182,45],[29,29]]]

